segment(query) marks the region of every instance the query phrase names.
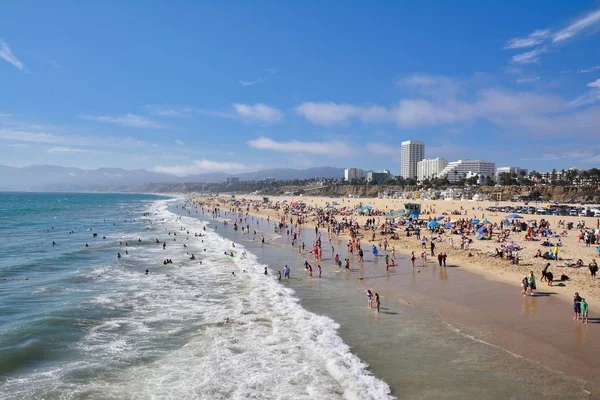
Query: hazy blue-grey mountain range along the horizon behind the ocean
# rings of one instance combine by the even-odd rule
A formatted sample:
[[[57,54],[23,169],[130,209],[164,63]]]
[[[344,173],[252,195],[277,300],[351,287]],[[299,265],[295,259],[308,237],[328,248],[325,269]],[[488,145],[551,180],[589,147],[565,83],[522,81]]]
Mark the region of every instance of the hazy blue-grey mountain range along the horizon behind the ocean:
[[[3,191],[78,191],[126,190],[148,183],[203,183],[225,182],[228,177],[241,180],[277,180],[342,178],[344,170],[334,167],[309,169],[275,168],[240,174],[212,172],[198,175],[175,176],[145,169],[121,168],[81,169],[56,165],[9,167],[0,164],[0,190]]]

